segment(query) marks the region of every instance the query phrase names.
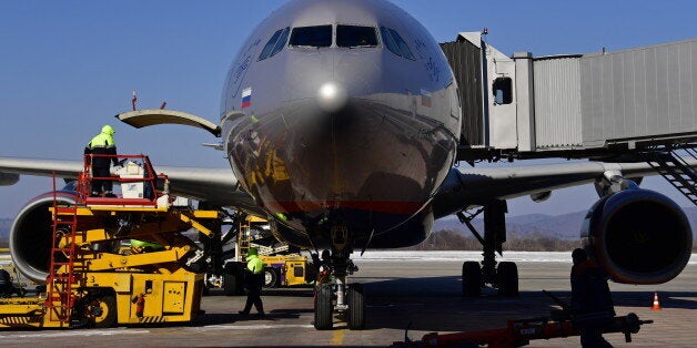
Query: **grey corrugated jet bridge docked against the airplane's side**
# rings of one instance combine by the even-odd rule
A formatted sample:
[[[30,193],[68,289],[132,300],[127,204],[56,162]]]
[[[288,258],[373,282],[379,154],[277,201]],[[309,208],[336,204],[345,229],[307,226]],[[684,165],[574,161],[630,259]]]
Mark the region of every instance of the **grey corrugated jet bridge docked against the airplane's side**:
[[[508,57],[479,32],[442,43],[461,93],[458,160],[603,157],[697,140],[697,39]]]

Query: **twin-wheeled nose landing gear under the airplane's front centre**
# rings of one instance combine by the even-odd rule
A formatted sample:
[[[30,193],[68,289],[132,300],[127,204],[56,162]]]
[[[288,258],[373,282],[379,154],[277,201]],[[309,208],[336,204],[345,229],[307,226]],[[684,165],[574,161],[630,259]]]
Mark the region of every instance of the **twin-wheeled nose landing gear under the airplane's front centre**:
[[[334,314],[348,325],[352,330],[365,327],[365,293],[363,285],[347,285],[346,276],[358,270],[350,256],[351,238],[345,226],[336,225],[331,231],[332,256],[331,275],[325,283],[315,286],[314,327],[317,330],[330,330],[334,327]]]

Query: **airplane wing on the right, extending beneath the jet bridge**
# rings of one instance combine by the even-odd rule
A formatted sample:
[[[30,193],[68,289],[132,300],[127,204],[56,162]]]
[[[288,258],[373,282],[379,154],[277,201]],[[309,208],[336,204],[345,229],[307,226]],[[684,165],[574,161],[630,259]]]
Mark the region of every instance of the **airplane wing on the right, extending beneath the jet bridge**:
[[[688,162],[691,167],[697,161]],[[508,167],[453,168],[433,199],[436,218],[493,199],[509,199],[548,191],[608,181],[613,175],[640,178],[656,175],[648,163],[574,162]]]

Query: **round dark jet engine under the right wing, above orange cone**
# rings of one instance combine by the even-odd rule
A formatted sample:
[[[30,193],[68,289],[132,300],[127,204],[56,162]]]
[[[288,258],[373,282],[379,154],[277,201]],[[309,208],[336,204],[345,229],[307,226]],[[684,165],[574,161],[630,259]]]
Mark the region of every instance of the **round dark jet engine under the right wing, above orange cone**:
[[[687,265],[693,232],[683,209],[649,190],[625,190],[588,211],[580,231],[584,247],[613,280],[661,284]]]

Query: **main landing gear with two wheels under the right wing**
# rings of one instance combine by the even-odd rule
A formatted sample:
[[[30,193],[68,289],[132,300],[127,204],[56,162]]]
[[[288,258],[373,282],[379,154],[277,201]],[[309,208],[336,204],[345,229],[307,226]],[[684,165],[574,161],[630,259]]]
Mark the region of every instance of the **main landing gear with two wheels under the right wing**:
[[[484,237],[474,228],[471,221],[484,212]],[[498,289],[498,295],[518,296],[518,267],[512,262],[496,265],[496,253],[502,255],[506,242],[506,201],[494,201],[473,214],[457,213],[459,221],[467,225],[472,234],[483,246],[482,263],[465,262],[462,266],[462,294],[475,297],[482,295],[482,288],[489,285]]]

